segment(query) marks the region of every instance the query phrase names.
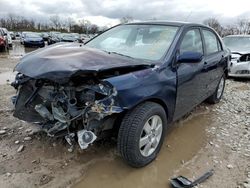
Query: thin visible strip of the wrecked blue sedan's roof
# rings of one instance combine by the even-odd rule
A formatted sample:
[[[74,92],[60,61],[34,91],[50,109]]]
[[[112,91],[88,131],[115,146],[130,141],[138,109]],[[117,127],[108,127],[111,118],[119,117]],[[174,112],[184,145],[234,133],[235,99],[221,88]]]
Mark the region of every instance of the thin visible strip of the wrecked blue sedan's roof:
[[[143,22],[132,22],[132,23],[127,23],[127,25],[131,24],[149,24],[149,25],[171,25],[171,26],[202,26],[202,27],[207,27],[203,24],[198,24],[198,23],[191,23],[191,22],[180,22],[180,21],[143,21]]]

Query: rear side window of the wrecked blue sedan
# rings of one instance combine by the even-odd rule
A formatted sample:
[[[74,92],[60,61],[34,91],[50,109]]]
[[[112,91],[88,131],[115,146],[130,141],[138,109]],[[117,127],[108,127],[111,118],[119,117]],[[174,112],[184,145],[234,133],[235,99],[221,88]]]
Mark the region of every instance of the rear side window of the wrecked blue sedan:
[[[204,36],[206,52],[208,55],[221,50],[220,42],[213,32],[202,30],[202,33]]]

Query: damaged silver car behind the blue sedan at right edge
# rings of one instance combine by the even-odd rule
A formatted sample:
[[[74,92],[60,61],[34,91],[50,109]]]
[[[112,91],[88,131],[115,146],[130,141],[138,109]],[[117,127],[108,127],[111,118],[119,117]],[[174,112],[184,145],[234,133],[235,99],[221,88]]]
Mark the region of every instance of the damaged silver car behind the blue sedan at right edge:
[[[250,35],[229,35],[223,41],[232,54],[228,76],[250,78]]]

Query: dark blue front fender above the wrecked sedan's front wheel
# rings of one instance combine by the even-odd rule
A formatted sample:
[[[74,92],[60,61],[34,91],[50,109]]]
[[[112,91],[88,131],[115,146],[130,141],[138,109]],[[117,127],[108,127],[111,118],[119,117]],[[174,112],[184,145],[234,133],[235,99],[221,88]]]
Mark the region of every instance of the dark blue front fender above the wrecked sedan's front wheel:
[[[167,106],[168,119],[172,121],[176,99],[176,72],[171,67],[145,69],[108,78],[106,81],[116,88],[122,108],[131,109],[143,101],[159,99]]]

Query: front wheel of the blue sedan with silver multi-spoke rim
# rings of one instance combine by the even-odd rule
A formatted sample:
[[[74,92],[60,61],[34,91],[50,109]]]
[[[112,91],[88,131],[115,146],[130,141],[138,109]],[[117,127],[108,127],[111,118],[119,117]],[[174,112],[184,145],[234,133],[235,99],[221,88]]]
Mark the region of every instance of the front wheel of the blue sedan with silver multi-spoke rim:
[[[149,123],[147,126],[146,122]],[[151,129],[154,127],[153,122],[157,122],[155,123],[155,129]],[[150,125],[150,129],[148,125]],[[166,126],[165,110],[161,105],[154,102],[142,103],[125,114],[119,129],[117,142],[118,151],[123,159],[130,166],[136,168],[152,162],[161,149]],[[144,141],[147,144],[143,145]],[[140,146],[140,143],[143,146]]]

